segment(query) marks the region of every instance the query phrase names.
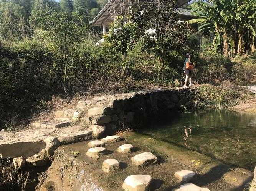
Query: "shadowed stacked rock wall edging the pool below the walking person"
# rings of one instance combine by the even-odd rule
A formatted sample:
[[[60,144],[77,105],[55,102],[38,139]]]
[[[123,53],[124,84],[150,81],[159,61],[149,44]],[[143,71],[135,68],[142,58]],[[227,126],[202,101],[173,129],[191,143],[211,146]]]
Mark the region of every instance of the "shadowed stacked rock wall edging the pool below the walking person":
[[[181,107],[194,107],[195,94],[195,89],[160,89],[96,97],[94,107],[82,121],[90,126],[96,137],[104,132],[112,134],[123,127],[139,128]]]

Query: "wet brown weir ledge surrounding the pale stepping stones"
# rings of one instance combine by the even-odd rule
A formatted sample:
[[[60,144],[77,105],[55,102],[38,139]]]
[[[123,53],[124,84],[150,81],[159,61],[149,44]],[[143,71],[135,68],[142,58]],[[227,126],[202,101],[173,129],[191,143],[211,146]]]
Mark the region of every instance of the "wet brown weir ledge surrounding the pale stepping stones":
[[[121,142],[107,144],[104,148],[109,153],[100,159],[91,159],[85,155],[88,141],[59,147],[45,177],[41,177],[37,190],[120,191],[127,176],[144,174],[152,176],[155,190],[168,191],[180,185],[173,176],[179,170],[195,171],[197,175],[190,183],[211,191],[243,190],[244,184],[252,179],[252,173],[247,170],[225,165],[182,147],[136,133],[127,133],[124,138]],[[135,147],[134,152],[117,153],[116,149],[126,143]],[[135,167],[131,157],[146,151],[157,156],[157,163]],[[117,159],[121,169],[114,173],[103,172],[102,162],[106,159]]]

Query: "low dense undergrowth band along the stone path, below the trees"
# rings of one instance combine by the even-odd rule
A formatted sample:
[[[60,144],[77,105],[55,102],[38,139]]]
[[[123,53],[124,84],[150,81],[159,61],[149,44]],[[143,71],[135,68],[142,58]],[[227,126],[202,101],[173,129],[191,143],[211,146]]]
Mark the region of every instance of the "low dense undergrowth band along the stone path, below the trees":
[[[91,39],[91,38],[90,38]],[[255,54],[232,61],[209,51],[187,48],[171,51],[164,68],[165,80],[159,78],[160,65],[154,55],[141,52],[138,44],[122,62],[120,53],[92,40],[75,43],[67,70],[67,94],[127,92],[182,82],[185,53],[193,53],[194,79],[203,84],[233,81],[249,84],[255,78]],[[124,65],[126,74],[122,75]],[[52,95],[64,94],[61,57],[55,45],[32,38],[18,42],[2,41],[0,46],[0,125],[10,128],[45,107]],[[5,125],[5,126],[4,126]]]

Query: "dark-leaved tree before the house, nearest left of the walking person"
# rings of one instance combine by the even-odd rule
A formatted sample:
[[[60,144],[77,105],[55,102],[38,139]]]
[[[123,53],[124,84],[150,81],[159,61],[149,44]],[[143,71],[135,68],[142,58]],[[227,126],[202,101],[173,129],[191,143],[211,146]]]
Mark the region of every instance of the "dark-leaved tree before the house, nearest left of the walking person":
[[[157,58],[159,58],[160,78],[164,79],[167,52],[184,44],[187,30],[182,23],[177,21],[175,1],[150,0],[142,2],[143,11],[137,15],[140,18],[137,21],[143,22],[138,25],[147,27],[143,35],[142,50],[155,51]]]

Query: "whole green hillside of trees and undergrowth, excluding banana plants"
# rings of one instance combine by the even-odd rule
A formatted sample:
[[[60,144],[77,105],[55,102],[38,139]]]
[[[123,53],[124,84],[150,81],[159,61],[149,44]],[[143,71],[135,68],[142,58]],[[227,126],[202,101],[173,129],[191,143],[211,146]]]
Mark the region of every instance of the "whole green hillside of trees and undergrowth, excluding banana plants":
[[[165,44],[157,35],[154,42],[150,36],[140,36],[144,32],[138,29],[139,22],[150,26],[155,20],[135,22],[124,15],[116,22],[127,31],[126,36],[106,36],[106,43],[95,46],[102,34],[88,23],[94,6],[83,4],[92,1],[78,1],[0,1],[0,129],[27,124],[26,119],[47,109],[53,95],[86,97],[182,86],[187,52],[193,53],[196,83],[255,83],[256,53],[224,57],[210,50],[207,35],[200,47],[201,34],[177,23],[174,9],[168,13],[173,18],[168,20],[170,28],[164,28],[169,32]],[[104,1],[96,3],[104,5]],[[166,11],[163,8],[163,14]]]

